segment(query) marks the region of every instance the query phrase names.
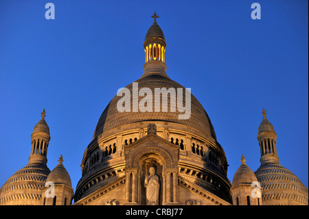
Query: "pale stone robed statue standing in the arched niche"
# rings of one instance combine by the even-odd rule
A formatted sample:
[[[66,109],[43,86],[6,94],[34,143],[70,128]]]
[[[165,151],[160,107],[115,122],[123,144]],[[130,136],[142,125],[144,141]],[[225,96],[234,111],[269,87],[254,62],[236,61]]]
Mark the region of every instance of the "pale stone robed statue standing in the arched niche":
[[[149,175],[150,174],[150,175]],[[160,181],[154,167],[146,173],[144,187],[146,187],[146,205],[159,205]]]

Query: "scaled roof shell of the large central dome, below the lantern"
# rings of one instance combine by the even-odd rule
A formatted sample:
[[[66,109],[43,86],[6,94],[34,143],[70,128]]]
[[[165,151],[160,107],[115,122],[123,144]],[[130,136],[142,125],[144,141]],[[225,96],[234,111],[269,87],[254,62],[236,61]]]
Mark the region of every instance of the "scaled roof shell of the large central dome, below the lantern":
[[[185,95],[185,88],[181,86],[181,84],[171,80],[170,78],[165,78],[159,75],[150,75],[144,78],[140,78],[135,82],[138,83],[138,89],[141,88],[149,88],[152,93],[155,92],[155,88],[183,88],[183,95]],[[131,100],[133,98],[133,84],[129,84],[126,88],[129,89]],[[153,96],[153,102],[155,102],[155,95]],[[108,106],[103,111],[99,122],[95,128],[95,132],[93,135],[93,139],[98,137],[103,132],[107,132],[112,130],[113,128],[117,128],[119,126],[124,126],[126,124],[133,124],[138,122],[146,122],[146,121],[163,121],[163,122],[174,122],[176,124],[183,124],[187,128],[192,128],[198,134],[201,134],[202,137],[209,139],[209,141],[216,141],[216,133],[214,131],[214,127],[211,124],[211,121],[203,108],[203,106],[196,100],[194,95],[191,95],[191,116],[189,119],[178,119],[179,112],[133,112],[133,103],[131,104],[130,112],[122,112],[120,113],[117,110],[117,102],[122,97],[115,96],[113,100],[108,104]],[[139,101],[144,97],[139,97]],[[183,101],[185,98],[183,98]],[[160,98],[162,103],[162,98]],[[138,103],[137,103],[138,104]],[[171,106],[170,97],[168,97],[168,106]],[[174,103],[175,104],[175,103]],[[161,106],[161,104],[160,104]]]

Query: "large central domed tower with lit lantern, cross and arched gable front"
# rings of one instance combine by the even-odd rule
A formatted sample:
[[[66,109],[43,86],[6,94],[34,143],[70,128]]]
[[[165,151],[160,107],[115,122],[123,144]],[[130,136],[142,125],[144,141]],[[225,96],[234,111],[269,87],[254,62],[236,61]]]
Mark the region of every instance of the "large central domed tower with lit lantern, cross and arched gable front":
[[[231,203],[225,152],[191,89],[167,75],[157,17],[144,41],[144,73],[118,90],[84,151],[74,196],[78,205],[88,205],[92,196],[97,203],[146,205],[143,181],[150,166],[161,182],[159,205],[194,202],[183,199],[190,196],[188,186],[203,194],[205,200],[197,203]]]

